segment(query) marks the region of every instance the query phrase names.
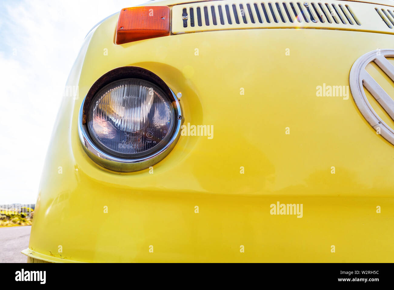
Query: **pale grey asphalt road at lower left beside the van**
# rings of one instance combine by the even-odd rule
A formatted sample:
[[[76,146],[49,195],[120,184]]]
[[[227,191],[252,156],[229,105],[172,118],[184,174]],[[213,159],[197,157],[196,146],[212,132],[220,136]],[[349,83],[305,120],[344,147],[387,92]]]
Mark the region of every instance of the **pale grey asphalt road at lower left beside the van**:
[[[29,245],[32,226],[0,228],[0,263],[26,263],[27,256],[20,253]]]

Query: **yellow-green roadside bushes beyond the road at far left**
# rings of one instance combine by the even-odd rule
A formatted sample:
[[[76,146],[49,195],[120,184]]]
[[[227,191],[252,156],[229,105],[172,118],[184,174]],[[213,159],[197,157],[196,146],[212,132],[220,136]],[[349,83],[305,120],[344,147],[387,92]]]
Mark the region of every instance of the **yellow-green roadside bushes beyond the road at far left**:
[[[30,207],[3,209],[0,208],[0,227],[32,225],[34,210]]]

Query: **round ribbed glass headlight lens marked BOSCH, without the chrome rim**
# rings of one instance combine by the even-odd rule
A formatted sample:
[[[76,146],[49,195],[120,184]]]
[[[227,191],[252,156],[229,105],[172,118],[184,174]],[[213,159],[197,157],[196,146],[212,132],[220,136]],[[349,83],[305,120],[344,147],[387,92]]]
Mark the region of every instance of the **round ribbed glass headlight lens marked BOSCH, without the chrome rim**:
[[[165,93],[145,80],[118,80],[100,89],[87,113],[96,145],[119,158],[143,158],[171,139],[175,110]]]

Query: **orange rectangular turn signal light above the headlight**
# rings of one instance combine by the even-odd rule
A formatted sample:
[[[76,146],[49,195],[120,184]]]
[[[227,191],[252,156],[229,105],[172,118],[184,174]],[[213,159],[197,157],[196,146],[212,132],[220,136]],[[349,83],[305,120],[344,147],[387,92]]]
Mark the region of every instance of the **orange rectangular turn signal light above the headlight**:
[[[168,6],[140,6],[121,10],[116,44],[160,37],[170,33]]]

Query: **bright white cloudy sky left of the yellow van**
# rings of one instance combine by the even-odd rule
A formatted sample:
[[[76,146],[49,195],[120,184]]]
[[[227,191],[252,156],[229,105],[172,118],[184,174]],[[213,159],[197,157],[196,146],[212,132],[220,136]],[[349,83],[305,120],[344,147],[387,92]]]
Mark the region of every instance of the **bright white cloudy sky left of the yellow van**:
[[[147,0],[0,0],[0,204],[35,203],[61,96],[85,35]]]

